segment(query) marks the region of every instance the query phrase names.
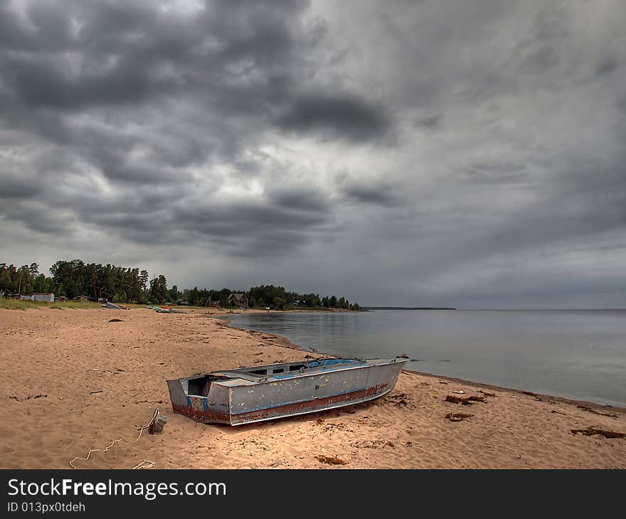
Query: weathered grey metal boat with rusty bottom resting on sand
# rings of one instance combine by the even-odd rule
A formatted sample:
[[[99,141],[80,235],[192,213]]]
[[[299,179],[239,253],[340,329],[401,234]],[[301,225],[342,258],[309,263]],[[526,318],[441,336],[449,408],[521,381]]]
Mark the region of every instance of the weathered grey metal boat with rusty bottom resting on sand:
[[[321,358],[168,380],[174,412],[248,424],[354,405],[393,389],[406,358]]]

